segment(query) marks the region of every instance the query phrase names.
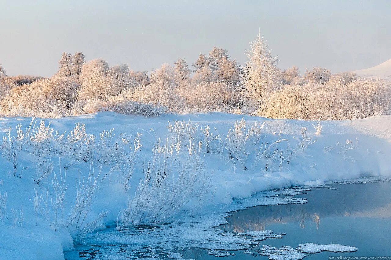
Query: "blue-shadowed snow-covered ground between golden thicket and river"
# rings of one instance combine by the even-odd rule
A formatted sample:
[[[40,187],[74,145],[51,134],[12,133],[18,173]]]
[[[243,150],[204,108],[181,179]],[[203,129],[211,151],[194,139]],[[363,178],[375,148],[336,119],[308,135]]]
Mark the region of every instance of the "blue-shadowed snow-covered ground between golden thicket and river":
[[[240,124],[242,118],[244,121]],[[39,120],[35,119],[36,129]],[[26,127],[30,125],[31,118],[0,119],[1,135],[5,137],[0,154],[2,198],[7,192],[6,207],[2,205],[0,198],[0,256],[4,259],[63,259],[63,251],[73,249],[74,240],[88,242],[84,240],[88,239],[88,234],[87,237],[82,236],[85,223],[96,219],[101,212],[107,211],[102,218],[103,222],[115,226],[117,219],[125,219],[123,215],[126,214],[122,211],[124,208],[134,210],[137,205],[146,205],[147,210],[127,219],[137,221],[133,224],[148,224],[153,222],[152,219],[155,222],[165,221],[156,215],[151,217],[154,211],[149,208],[155,203],[154,198],[149,198],[151,201],[146,204],[142,204],[142,199],[134,201],[130,207],[128,204],[128,201],[135,198],[139,184],[139,193],[142,189],[149,191],[151,187],[150,183],[142,186],[140,180],[144,178],[145,171],[152,171],[152,148],[156,149],[159,139],[159,147],[172,147],[172,153],[176,156],[172,161],[172,168],[167,168],[172,170],[172,176],[170,172],[164,171],[164,176],[172,178],[171,184],[164,184],[172,186],[164,191],[169,191],[172,198],[179,200],[183,199],[177,194],[179,191],[185,194],[190,186],[197,186],[197,189],[186,193],[188,196],[194,196],[193,198],[185,198],[182,204],[176,205],[178,210],[181,210],[178,214],[182,216],[189,214],[187,210],[190,210],[192,215],[197,215],[206,209],[227,207],[225,205],[230,205],[233,198],[250,198],[260,191],[292,185],[323,185],[325,182],[360,177],[391,176],[391,116],[353,121],[321,121],[320,131],[317,121],[265,119],[219,112],[163,115],[158,118],[99,112],[43,120],[45,126],[51,122],[50,127],[58,131],[59,135],[65,132],[65,137],[56,139],[55,132],[52,132],[53,137],[46,138],[50,129],[43,127],[39,128],[38,132],[31,131],[30,137],[27,138],[29,134]],[[191,123],[188,123],[189,120]],[[175,125],[174,121],[184,122]],[[167,127],[169,122],[171,128]],[[237,127],[233,128],[235,122],[238,122]],[[75,143],[72,139],[77,133],[80,134],[80,130],[74,130],[77,123],[85,124],[85,134],[93,134],[96,137],[88,147]],[[261,128],[263,123],[265,124]],[[20,129],[25,137],[21,138],[20,143],[18,138],[10,142],[7,133],[10,133],[11,137],[18,136],[18,124],[22,125]],[[206,126],[209,126],[209,133],[213,134],[205,134]],[[111,137],[106,134],[100,136],[102,131],[113,128]],[[67,139],[66,136],[70,132],[74,134]],[[133,141],[135,137],[141,140],[141,148],[137,153]],[[29,141],[26,141],[27,139]],[[85,140],[87,139],[91,140],[91,136],[86,135]],[[10,144],[17,148],[20,145],[21,149],[15,148],[16,151],[9,148]],[[46,146],[50,149],[42,151]],[[10,153],[9,150],[16,152]],[[189,150],[193,151],[190,156],[194,155],[194,151],[199,153],[197,158],[201,158],[205,175],[197,173],[198,179],[185,176],[182,181],[193,182],[187,186],[185,182],[179,182],[175,174],[180,174],[178,166],[183,165]],[[84,162],[85,157],[90,160]],[[126,167],[122,164],[123,158],[131,161]],[[131,160],[132,158],[134,160]],[[50,168],[51,162],[53,172],[50,171],[50,174],[37,184],[36,175],[41,175]],[[146,167],[147,162],[151,164]],[[84,186],[80,183],[83,183],[83,178],[87,178],[91,168],[95,171],[97,189],[93,192],[90,210],[84,212],[84,224],[76,224],[74,212],[77,211],[75,208],[78,204],[74,201],[78,191],[88,186],[86,182]],[[195,171],[186,168],[187,173],[192,173],[190,170]],[[132,173],[131,176],[126,175],[129,172]],[[200,172],[203,173],[201,170]],[[58,182],[54,179],[54,174]],[[60,175],[63,176],[63,183]],[[93,182],[93,175],[91,176]],[[209,185],[201,187],[200,178],[207,180]],[[59,200],[64,204],[64,210],[61,210],[61,205],[56,204],[55,187],[66,186],[63,199]],[[208,189],[201,191],[201,188]],[[41,195],[42,198],[39,199]],[[34,211],[34,196],[40,201],[37,213]],[[135,204],[136,202],[139,204]],[[45,212],[45,203],[50,210],[48,214]],[[56,205],[59,208],[57,224],[54,214]],[[20,214],[21,211],[23,215]],[[160,215],[165,214],[167,210],[160,212]],[[168,214],[166,220],[175,223],[178,214]],[[221,218],[217,216],[219,217]],[[126,224],[129,223],[120,225],[122,230]],[[322,245],[317,248],[327,250],[324,249],[325,246],[322,248]]]

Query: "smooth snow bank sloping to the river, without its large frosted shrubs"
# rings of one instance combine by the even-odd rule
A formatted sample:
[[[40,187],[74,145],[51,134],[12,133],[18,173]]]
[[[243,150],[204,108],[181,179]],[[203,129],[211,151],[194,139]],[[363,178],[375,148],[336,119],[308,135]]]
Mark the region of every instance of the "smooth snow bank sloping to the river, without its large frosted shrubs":
[[[242,118],[246,128],[240,132],[240,129],[235,130],[234,125],[235,121],[239,122]],[[39,119],[36,120],[39,124]],[[230,204],[234,198],[250,198],[260,191],[287,188],[292,185],[323,185],[325,182],[339,182],[360,177],[391,176],[391,165],[388,161],[391,156],[391,116],[375,116],[353,121],[321,121],[322,131],[317,135],[313,126],[317,122],[313,121],[276,120],[217,112],[163,115],[158,118],[99,112],[46,119],[46,126],[51,122],[50,127],[59,135],[66,132],[66,136],[74,130],[76,123],[84,123],[86,133],[97,137],[96,140],[103,130],[113,128],[115,138],[110,140],[124,140],[120,148],[117,147],[117,143],[114,145],[114,141],[111,141],[111,144],[102,143],[99,144],[101,146],[97,146],[99,149],[91,150],[93,151],[91,158],[95,160],[93,169],[96,175],[100,172],[97,180],[99,188],[93,194],[94,203],[89,208],[85,223],[94,221],[106,210],[108,212],[103,218],[103,223],[115,223],[117,217],[122,214],[120,212],[129,206],[128,201],[135,198],[137,186],[140,180],[144,179],[145,170],[148,169],[145,165],[151,160],[152,148],[156,147],[156,142],[159,139],[164,142],[169,138],[167,142],[172,142],[175,146],[175,138],[179,135],[173,137],[173,133],[167,128],[169,122],[173,124],[174,120],[185,122],[191,120],[192,125],[198,125],[197,130],[194,130],[193,144],[189,143],[186,135],[181,139],[181,151],[187,152],[189,145],[196,147],[198,141],[202,142],[199,151],[204,173],[209,180],[209,190],[202,195],[202,200],[194,195],[199,194],[198,191],[189,193],[193,194],[194,198],[186,198],[183,200],[184,204],[179,205],[179,210],[191,209],[193,214],[197,214],[197,208],[208,208],[207,205],[220,207],[219,205]],[[8,133],[11,136],[17,135],[18,124],[25,129],[30,121],[31,118],[0,118],[0,135],[5,137],[4,144],[9,143]],[[265,125],[260,128],[263,122]],[[257,127],[251,130],[255,124]],[[212,133],[208,136],[213,137],[208,148],[205,146],[208,136],[202,132],[206,126],[209,126],[209,131]],[[306,129],[303,135],[304,128]],[[230,129],[234,131],[230,132]],[[124,165],[117,164],[117,161],[123,154],[131,155],[130,146],[133,147],[133,139],[137,133],[142,134],[140,137],[142,147],[133,168],[126,168],[127,173],[132,171],[131,176],[126,179]],[[233,133],[234,138],[228,133]],[[246,137],[247,135],[251,136]],[[110,140],[107,140],[109,143]],[[117,148],[123,150],[118,150],[118,153],[113,156],[111,151],[114,150],[110,149]],[[56,149],[59,148],[56,146]],[[210,152],[208,153],[206,149],[210,149]],[[34,182],[38,172],[37,155],[35,155],[37,151],[18,150],[15,159],[13,155],[5,154],[6,149],[2,151],[4,153],[0,154],[2,165],[0,193],[7,192],[4,210],[7,215],[3,221],[0,220],[2,233],[0,255],[14,259],[45,259],[44,257],[63,259],[62,251],[73,248],[71,234],[74,236],[75,230],[72,230],[70,225],[67,228],[63,227],[66,226],[64,223],[68,216],[72,215],[72,207],[77,198],[75,181],[79,180],[79,177],[87,178],[90,173],[90,162],[84,162],[83,157],[77,159],[77,155],[73,153],[67,152],[60,156],[56,150],[50,150],[44,155],[48,160],[47,163],[53,164],[53,172],[57,176],[60,171],[64,174],[66,170],[64,183],[67,186],[66,203],[62,214],[59,213],[59,224],[55,228],[54,213],[50,205],[51,199],[56,198],[52,187],[54,173],[50,173],[37,184]],[[104,157],[103,160],[102,155],[107,155],[106,151],[111,156]],[[100,158],[97,158],[98,155]],[[183,158],[185,157],[181,153],[178,157],[179,162],[184,162]],[[176,180],[176,175],[173,174],[172,178]],[[126,189],[124,189],[124,180],[129,184]],[[38,219],[36,218],[32,203],[34,189],[37,189],[39,194],[46,194],[49,189],[47,201],[50,221],[46,221],[41,214],[38,214]],[[286,199],[269,201],[267,198],[263,199],[262,203],[288,203]],[[305,203],[306,201],[292,198],[289,202]],[[19,212],[22,205],[24,221],[19,221],[20,223],[15,225],[13,224],[15,217],[11,209]],[[175,219],[175,215],[169,217]],[[148,218],[141,221],[148,221]],[[253,239],[271,235],[258,234]],[[15,241],[23,243],[22,250],[15,250]],[[246,242],[249,243],[251,240]]]

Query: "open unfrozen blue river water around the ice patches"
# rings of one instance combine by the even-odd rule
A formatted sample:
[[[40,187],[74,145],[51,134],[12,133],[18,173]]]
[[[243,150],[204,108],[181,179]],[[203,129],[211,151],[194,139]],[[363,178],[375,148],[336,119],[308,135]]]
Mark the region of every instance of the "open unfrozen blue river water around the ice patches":
[[[343,244],[355,246],[355,253],[308,254],[305,259],[328,256],[391,256],[391,182],[333,185],[336,190],[316,188],[305,204],[257,206],[233,212],[227,224],[218,228],[231,232],[273,230],[286,233],[282,239],[267,239],[262,244],[274,247],[301,243]],[[262,245],[260,245],[262,246]],[[257,248],[259,248],[258,246]],[[230,259],[267,259],[254,249],[253,255],[232,251]],[[216,259],[203,249],[181,251],[183,257]],[[333,255],[334,254],[334,255]]]

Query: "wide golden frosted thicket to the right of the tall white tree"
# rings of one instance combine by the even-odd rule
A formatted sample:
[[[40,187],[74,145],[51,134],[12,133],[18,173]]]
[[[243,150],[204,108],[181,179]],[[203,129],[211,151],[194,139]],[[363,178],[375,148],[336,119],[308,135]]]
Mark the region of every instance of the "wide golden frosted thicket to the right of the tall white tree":
[[[267,118],[341,120],[387,113],[391,87],[382,80],[329,80],[285,85],[265,96],[256,114]]]

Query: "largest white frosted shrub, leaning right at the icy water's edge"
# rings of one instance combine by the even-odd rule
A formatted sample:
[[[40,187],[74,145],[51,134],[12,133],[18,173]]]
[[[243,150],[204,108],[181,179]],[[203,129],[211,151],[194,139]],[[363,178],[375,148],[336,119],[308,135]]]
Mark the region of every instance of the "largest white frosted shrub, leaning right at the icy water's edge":
[[[144,165],[145,177],[140,180],[135,198],[123,210],[117,228],[167,221],[191,198],[199,198],[201,205],[209,181],[200,150],[201,144],[197,147],[191,140],[186,151],[174,149],[174,144],[168,142],[156,144],[151,160]]]

